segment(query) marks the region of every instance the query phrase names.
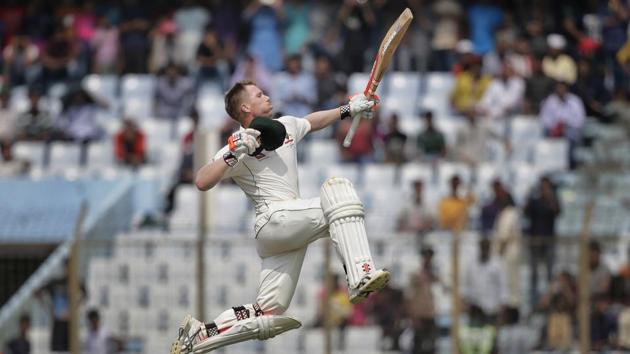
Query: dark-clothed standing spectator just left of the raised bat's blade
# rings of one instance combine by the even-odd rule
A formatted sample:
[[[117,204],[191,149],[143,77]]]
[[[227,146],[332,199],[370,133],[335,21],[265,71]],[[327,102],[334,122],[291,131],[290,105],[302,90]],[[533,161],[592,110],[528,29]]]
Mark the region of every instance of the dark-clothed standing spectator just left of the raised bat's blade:
[[[346,74],[364,71],[365,51],[375,16],[369,1],[344,0],[337,20],[341,24],[341,67]]]

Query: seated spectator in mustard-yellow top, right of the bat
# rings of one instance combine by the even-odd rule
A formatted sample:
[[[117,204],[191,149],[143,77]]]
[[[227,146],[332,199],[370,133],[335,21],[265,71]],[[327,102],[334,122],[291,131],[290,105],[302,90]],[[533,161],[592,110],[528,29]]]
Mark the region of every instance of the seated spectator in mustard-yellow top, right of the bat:
[[[455,79],[451,106],[456,113],[474,115],[475,107],[486,93],[492,77],[481,73],[481,62],[475,59],[467,70]]]

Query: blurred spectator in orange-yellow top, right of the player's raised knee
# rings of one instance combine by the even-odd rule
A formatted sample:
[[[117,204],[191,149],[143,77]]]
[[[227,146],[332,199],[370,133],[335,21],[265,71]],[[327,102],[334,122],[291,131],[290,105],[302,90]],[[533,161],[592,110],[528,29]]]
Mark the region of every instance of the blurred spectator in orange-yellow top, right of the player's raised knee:
[[[459,175],[451,177],[450,195],[440,202],[438,221],[445,230],[462,231],[468,225],[468,208],[475,202],[475,197],[470,190],[464,197],[460,197],[460,185]]]

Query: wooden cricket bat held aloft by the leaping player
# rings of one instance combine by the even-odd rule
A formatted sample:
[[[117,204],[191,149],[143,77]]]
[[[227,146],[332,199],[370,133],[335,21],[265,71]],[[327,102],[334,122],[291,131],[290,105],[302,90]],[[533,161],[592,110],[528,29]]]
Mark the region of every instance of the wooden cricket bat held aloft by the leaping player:
[[[394,56],[394,52],[396,48],[398,48],[398,44],[402,40],[405,32],[407,32],[407,28],[409,24],[413,20],[413,14],[409,8],[406,8],[394,24],[389,28],[387,34],[381,41],[381,45],[378,48],[378,52],[376,53],[376,58],[374,59],[374,64],[372,64],[372,72],[370,73],[370,79],[368,80],[367,86],[365,87],[365,97],[372,97],[376,89],[378,88],[378,84],[381,83],[381,78],[387,70],[389,66],[389,62]],[[348,130],[348,134],[346,134],[346,138],[343,140],[343,146],[349,147],[352,143],[352,137],[359,126],[359,122],[361,121],[361,116],[356,116],[352,120],[352,126],[350,126],[350,130]]]

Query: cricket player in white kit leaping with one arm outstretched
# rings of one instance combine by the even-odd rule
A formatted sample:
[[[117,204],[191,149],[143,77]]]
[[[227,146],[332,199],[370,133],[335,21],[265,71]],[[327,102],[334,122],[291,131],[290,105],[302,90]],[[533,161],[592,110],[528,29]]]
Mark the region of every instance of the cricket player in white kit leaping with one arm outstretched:
[[[209,323],[187,316],[171,354],[206,353],[300,327],[299,321],[282,314],[295,292],[309,243],[322,237],[330,235],[343,260],[352,303],[387,284],[390,274],[374,265],[363,204],[350,181],[327,179],[319,198],[302,199],[298,187],[297,143],[338,119],[371,119],[374,104],[357,94],[339,108],[274,120],[271,100],[253,82],[238,82],[226,93],[225,109],[242,129],[197,172],[195,184],[207,191],[231,177],[254,203],[256,249],[262,259],[258,296]]]

